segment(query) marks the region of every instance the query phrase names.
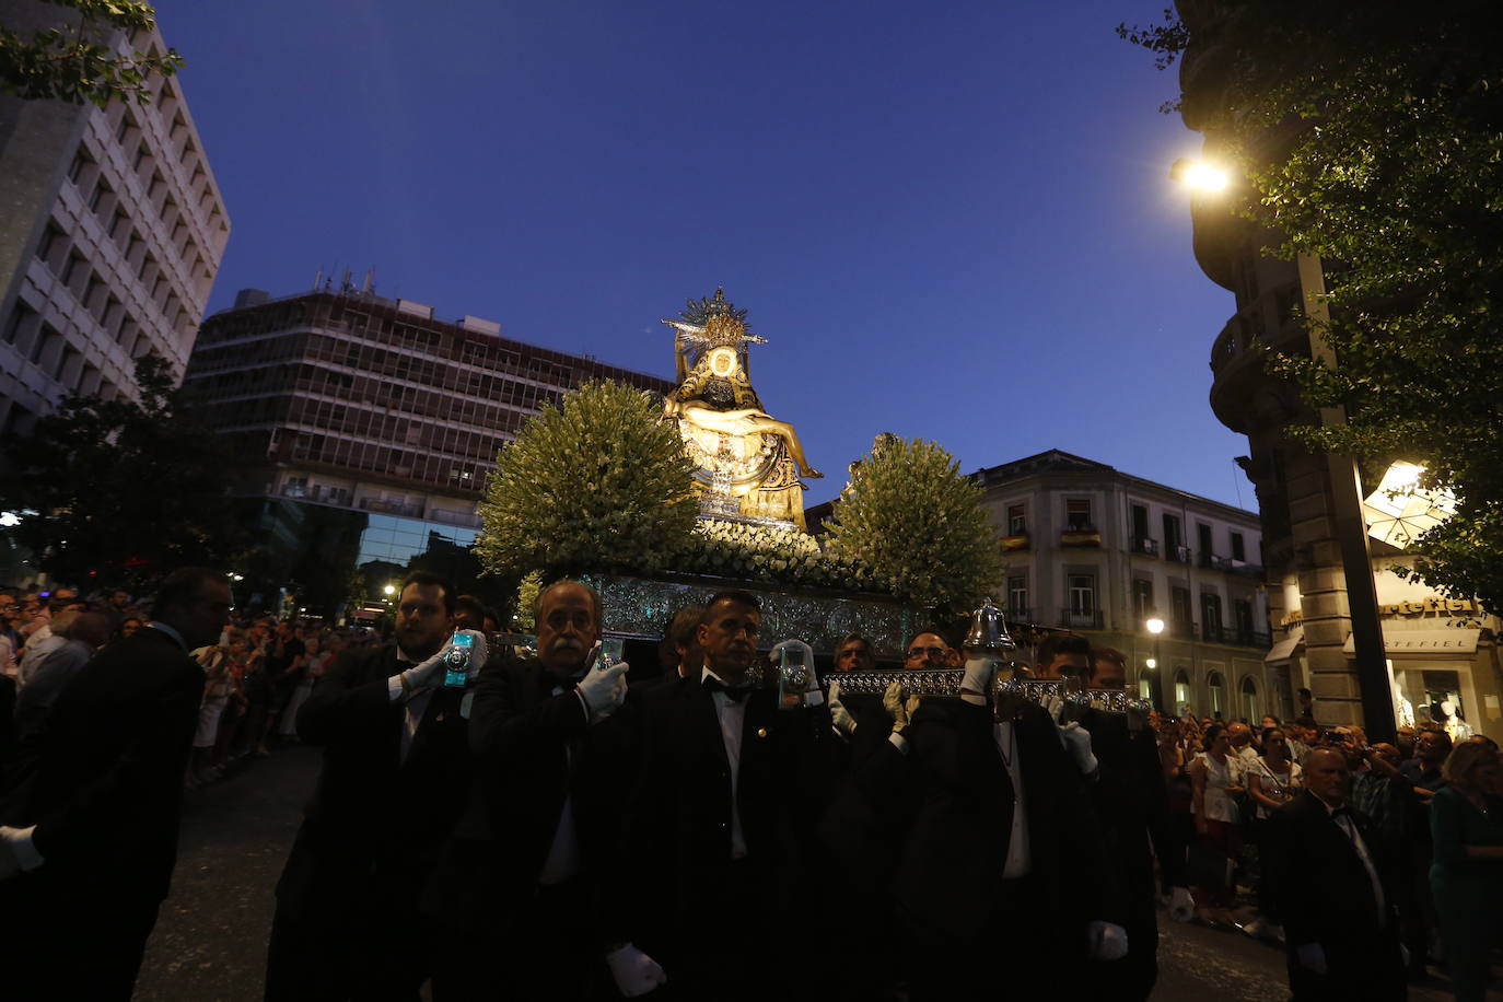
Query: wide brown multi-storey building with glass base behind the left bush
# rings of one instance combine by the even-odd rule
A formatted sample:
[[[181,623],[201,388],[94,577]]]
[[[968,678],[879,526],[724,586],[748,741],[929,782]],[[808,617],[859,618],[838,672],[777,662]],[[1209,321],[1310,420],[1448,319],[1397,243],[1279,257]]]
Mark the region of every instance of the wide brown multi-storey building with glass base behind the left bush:
[[[500,337],[479,317],[349,284],[281,299],[242,290],[203,323],[183,383],[225,439],[254,506],[256,590],[287,583],[332,611],[364,568],[371,595],[407,568],[473,577],[469,545],[494,457],[544,403],[592,379],[673,383]]]

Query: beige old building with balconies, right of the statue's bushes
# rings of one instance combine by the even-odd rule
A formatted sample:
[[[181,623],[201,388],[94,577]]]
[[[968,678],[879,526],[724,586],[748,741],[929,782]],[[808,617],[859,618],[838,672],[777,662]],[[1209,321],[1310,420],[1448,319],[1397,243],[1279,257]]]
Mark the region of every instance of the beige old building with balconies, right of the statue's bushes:
[[[1021,659],[1043,632],[1069,629],[1127,655],[1129,688],[1162,711],[1257,723],[1293,709],[1287,667],[1266,662],[1254,512],[1058,449],[971,479],[1006,553],[993,599]],[[830,512],[810,508],[809,524]]]

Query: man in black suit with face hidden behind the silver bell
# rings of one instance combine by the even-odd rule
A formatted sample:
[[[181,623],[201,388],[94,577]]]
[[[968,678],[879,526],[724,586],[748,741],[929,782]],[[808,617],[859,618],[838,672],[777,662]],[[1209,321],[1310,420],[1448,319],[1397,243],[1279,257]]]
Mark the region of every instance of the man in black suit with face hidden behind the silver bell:
[[[1111,892],[1081,771],[1042,708],[987,705],[995,670],[971,658],[960,699],[894,703],[887,747],[822,826],[831,852],[891,876],[894,967],[915,1002],[1042,984],[1085,999],[1085,960],[1126,940],[1102,921]],[[882,864],[870,847],[893,832],[900,849]]]

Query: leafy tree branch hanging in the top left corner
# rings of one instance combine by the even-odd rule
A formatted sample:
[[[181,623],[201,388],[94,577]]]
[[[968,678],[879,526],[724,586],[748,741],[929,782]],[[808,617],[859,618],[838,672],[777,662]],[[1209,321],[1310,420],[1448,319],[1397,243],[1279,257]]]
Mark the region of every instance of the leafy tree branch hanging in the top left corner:
[[[183,66],[176,50],[122,54],[114,32],[150,33],[156,12],[129,0],[48,0],[78,12],[60,27],[24,38],[0,27],[0,93],[26,99],[56,98],[101,108],[114,99],[152,102],[152,77],[171,77]],[[60,15],[62,17],[62,15]]]

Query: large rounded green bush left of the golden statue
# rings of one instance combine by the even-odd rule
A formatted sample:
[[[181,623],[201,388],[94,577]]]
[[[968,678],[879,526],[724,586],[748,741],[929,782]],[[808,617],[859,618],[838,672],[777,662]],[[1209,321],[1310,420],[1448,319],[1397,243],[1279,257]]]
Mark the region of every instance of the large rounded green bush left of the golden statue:
[[[655,574],[699,512],[678,428],[630,386],[592,382],[544,406],[496,463],[475,547],[491,574]]]

